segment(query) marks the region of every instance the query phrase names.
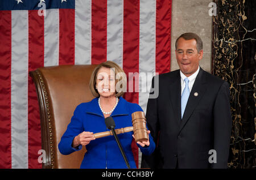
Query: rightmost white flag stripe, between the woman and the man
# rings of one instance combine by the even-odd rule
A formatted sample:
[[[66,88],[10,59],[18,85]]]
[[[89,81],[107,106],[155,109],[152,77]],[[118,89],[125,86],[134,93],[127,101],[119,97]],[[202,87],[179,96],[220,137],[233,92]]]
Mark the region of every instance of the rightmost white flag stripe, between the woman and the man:
[[[156,1],[141,0],[139,10],[139,105],[146,113],[151,77],[155,73]],[[139,168],[141,168],[139,152]]]

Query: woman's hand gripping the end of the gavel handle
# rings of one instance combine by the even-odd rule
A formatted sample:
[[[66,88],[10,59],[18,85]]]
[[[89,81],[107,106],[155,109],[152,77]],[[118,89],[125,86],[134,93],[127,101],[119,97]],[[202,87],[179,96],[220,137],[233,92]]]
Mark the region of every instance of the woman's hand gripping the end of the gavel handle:
[[[91,140],[94,140],[95,137],[93,135],[93,132],[81,132],[79,135],[77,135],[74,139],[73,139],[73,147],[77,147],[80,144],[81,145],[87,145],[90,143]]]

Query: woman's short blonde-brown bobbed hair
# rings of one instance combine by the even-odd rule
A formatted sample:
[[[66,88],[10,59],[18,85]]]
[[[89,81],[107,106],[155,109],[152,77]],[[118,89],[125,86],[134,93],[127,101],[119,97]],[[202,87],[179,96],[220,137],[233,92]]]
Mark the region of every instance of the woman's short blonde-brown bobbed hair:
[[[118,66],[117,63],[114,63],[113,61],[102,62],[102,63],[100,63],[100,65],[98,65],[94,69],[92,76],[90,76],[90,82],[89,82],[89,88],[90,88],[90,91],[92,92],[93,96],[95,96],[95,97],[100,96],[100,94],[98,93],[98,90],[96,89],[96,80],[97,80],[98,70],[100,70],[101,67],[114,68],[115,97],[122,96],[126,92],[126,83],[127,83],[126,74],[122,70],[122,68],[120,66]],[[117,83],[119,84],[119,87],[117,87]]]

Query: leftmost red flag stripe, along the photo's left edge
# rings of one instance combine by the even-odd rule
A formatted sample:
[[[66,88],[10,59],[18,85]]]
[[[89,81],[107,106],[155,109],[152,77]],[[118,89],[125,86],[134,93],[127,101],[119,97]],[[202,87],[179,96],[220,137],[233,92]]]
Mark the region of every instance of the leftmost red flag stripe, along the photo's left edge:
[[[0,11],[0,168],[11,168],[11,11]]]

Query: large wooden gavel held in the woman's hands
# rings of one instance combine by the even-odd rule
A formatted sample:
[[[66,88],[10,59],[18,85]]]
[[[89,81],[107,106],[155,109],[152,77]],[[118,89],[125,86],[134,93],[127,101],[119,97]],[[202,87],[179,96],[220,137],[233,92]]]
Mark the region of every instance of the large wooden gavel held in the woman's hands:
[[[135,142],[144,142],[148,140],[146,118],[144,112],[134,112],[131,114],[131,122],[133,126],[123,127],[115,129],[116,134],[122,134],[125,132],[133,131]],[[112,131],[98,132],[93,134],[94,137],[103,138],[106,136],[113,135]]]

